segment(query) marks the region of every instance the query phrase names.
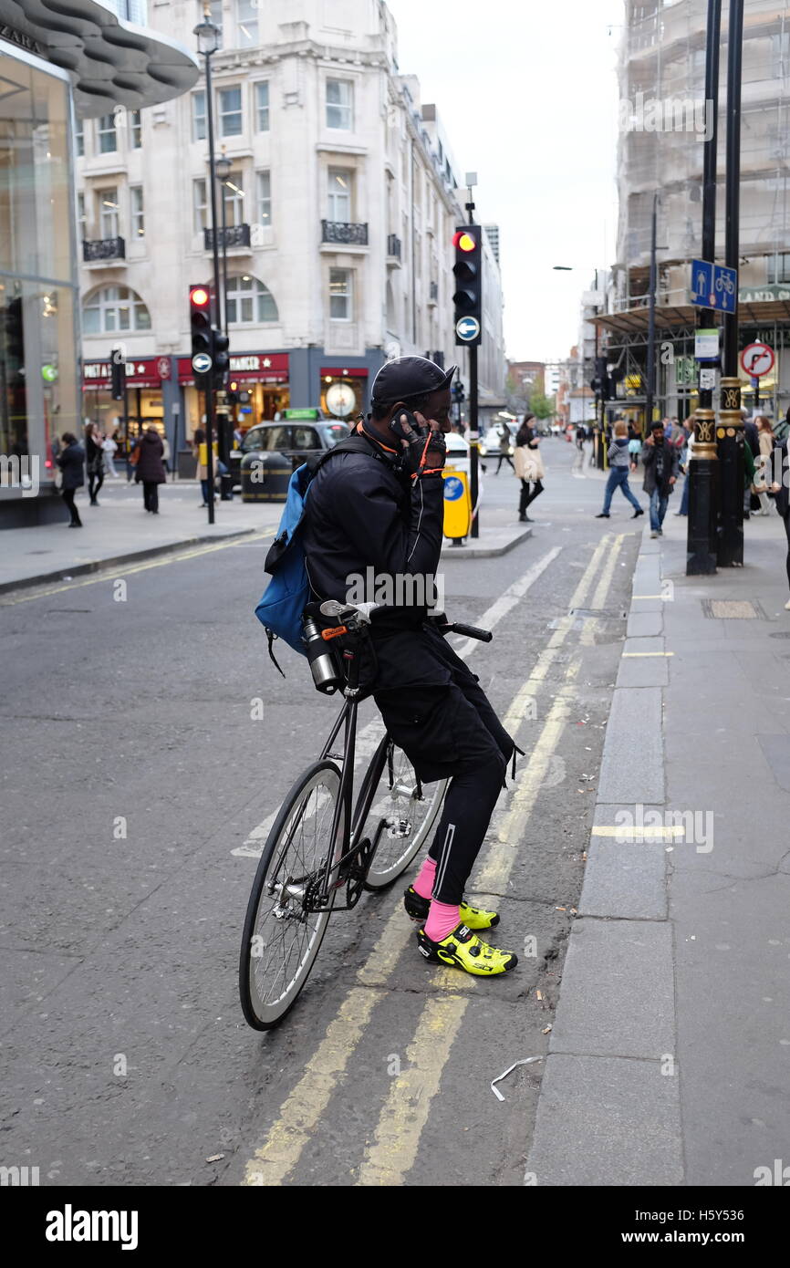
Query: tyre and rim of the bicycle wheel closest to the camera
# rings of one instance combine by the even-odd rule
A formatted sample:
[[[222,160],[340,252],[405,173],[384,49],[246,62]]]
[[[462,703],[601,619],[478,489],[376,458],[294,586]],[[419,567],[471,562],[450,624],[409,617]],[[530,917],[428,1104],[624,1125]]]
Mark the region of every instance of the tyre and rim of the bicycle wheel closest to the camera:
[[[280,889],[279,899],[275,899],[273,889],[266,891],[266,881],[269,879],[269,883],[271,884],[274,879],[280,875],[280,869],[283,865],[287,865],[289,855],[292,862],[298,865],[297,875],[301,875],[304,871],[314,871],[321,866],[321,858],[316,858],[314,856],[308,858],[304,853],[299,857],[298,847],[294,847],[294,834],[298,831],[299,820],[303,822],[304,814],[308,813],[307,809],[303,809],[299,819],[297,820],[297,812],[299,812],[299,808],[308,808],[313,792],[322,787],[325,792],[328,794],[331,803],[327,806],[327,812],[331,810],[331,813],[323,814],[323,824],[328,824],[326,828],[328,836],[331,832],[335,806],[337,805],[337,798],[340,794],[340,771],[333,762],[314,762],[309,766],[288,792],[278,812],[276,819],[271,825],[271,832],[266,838],[266,844],[264,846],[257,870],[255,872],[255,880],[252,881],[252,889],[250,891],[238,960],[238,995],[241,999],[241,1008],[245,1021],[254,1030],[271,1030],[290,1012],[299,998],[313,964],[316,962],[316,956],[321,948],[330,915],[332,914],[335,894],[332,894],[330,905],[326,910],[307,914],[299,908],[302,910],[302,914],[299,915],[297,914],[298,909],[293,898],[288,896],[283,900],[283,891]],[[316,803],[318,801],[320,798],[317,796]],[[316,805],[316,809],[320,809],[318,804]],[[288,829],[292,824],[290,839],[288,839]],[[341,839],[344,836],[345,823],[341,819]],[[278,846],[280,847],[279,853]],[[326,858],[326,853],[323,855],[323,858]],[[269,870],[273,865],[275,871],[273,876],[269,877]],[[289,872],[288,866],[285,866],[285,872]],[[289,902],[293,903],[293,909],[287,910],[284,915],[275,915],[275,910],[279,908],[279,910],[283,912],[284,905]],[[266,904],[273,904],[268,912],[265,910]],[[261,912],[264,915],[269,915],[274,923],[270,923],[264,928]],[[307,941],[303,941],[301,945],[295,967],[289,969],[288,960],[290,957],[290,952],[295,947],[295,938],[288,948],[285,947],[285,938],[287,928],[294,922],[297,924],[307,924],[311,932]],[[312,927],[309,922],[312,922]],[[266,970],[271,962],[278,962],[276,945],[274,945],[274,942],[271,943],[273,951],[266,959],[266,966],[262,964],[256,965],[256,961],[264,960],[264,952],[270,945],[266,938],[274,940],[280,935],[283,938],[283,960],[285,965],[283,971],[284,989],[273,1000],[268,1000],[265,998],[265,983],[271,974]],[[256,938],[260,941],[255,942],[254,940]],[[259,948],[260,954],[256,954]],[[276,973],[279,976],[279,967]],[[276,980],[278,978],[274,979],[275,983]]]

